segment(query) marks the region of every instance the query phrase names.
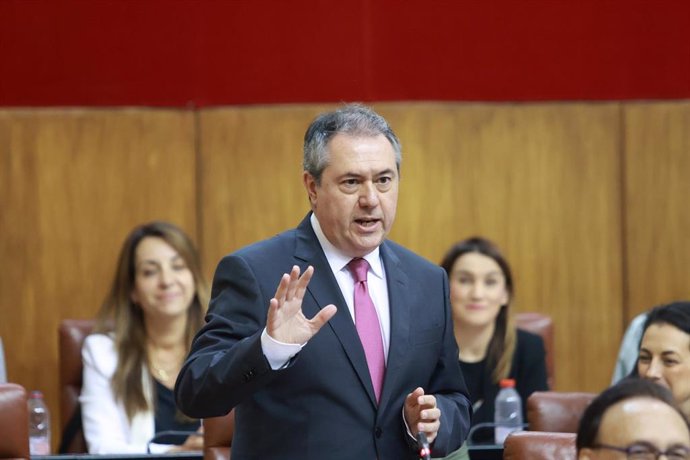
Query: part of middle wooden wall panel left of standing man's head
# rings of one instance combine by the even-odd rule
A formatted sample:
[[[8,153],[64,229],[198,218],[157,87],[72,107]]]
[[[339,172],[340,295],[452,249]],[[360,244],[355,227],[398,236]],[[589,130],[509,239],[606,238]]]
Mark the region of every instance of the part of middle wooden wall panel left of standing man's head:
[[[302,185],[304,131],[329,106],[203,110],[200,201],[203,258],[220,258],[295,227],[309,211]]]

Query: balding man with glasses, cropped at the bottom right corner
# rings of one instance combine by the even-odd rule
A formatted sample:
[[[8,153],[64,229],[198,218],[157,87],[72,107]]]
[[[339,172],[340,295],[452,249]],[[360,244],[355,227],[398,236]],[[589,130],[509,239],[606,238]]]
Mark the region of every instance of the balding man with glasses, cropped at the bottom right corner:
[[[671,393],[625,379],[594,398],[577,431],[578,460],[690,458],[690,428]]]

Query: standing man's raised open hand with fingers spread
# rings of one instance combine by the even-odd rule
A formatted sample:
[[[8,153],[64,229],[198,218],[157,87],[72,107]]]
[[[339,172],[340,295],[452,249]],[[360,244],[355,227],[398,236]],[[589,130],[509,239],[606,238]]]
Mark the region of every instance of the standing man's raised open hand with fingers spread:
[[[312,319],[302,313],[302,299],[314,267],[309,266],[302,276],[298,266],[292,267],[290,274],[284,274],[271,299],[266,320],[266,332],[273,339],[283,343],[304,344],[335,315],[335,305],[323,307]]]

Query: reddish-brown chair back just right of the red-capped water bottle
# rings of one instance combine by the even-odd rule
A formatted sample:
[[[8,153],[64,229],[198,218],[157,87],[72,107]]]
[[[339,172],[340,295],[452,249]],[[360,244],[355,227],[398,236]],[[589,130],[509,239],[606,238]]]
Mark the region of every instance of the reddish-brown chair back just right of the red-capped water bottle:
[[[577,433],[585,408],[596,393],[535,391],[527,398],[527,423],[531,431]]]

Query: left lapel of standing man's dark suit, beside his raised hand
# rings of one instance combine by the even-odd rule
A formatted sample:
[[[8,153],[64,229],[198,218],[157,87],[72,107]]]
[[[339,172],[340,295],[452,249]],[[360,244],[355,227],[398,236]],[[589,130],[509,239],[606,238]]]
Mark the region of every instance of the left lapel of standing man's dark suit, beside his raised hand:
[[[314,275],[309,282],[307,292],[313,297],[314,302],[303,302],[302,311],[308,318],[312,318],[318,311],[329,304],[334,304],[338,312],[328,322],[328,327],[340,341],[350,364],[355,369],[361,384],[366,389],[369,399],[376,405],[374,388],[369,376],[364,349],[357,335],[355,324],[347,308],[347,303],[340,291],[340,286],[333,276],[326,255],[321,249],[319,240],[311,226],[309,214],[297,227],[297,244],[295,257],[301,261],[300,268],[305,270],[308,265],[314,267]],[[305,299],[306,300],[306,299]]]

